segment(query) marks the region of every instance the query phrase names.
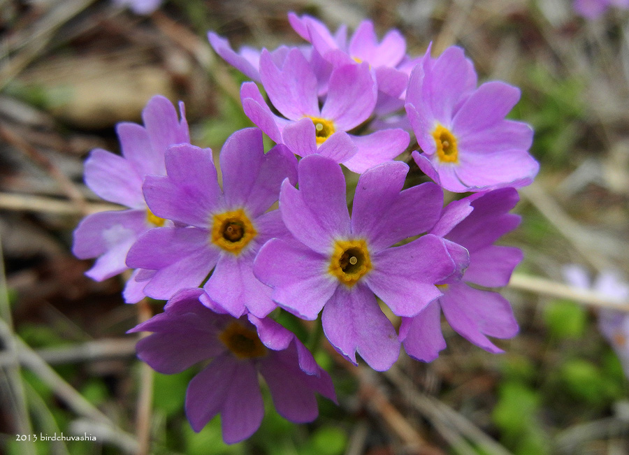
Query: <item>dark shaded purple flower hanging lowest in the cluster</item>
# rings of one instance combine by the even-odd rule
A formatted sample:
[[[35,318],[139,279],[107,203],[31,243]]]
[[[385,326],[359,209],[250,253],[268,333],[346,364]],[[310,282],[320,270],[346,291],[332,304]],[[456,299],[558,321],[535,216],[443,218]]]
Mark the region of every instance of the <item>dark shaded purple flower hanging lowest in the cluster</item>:
[[[150,331],[138,341],[138,357],[164,374],[180,373],[211,359],[188,386],[186,414],[201,431],[221,414],[228,444],[249,438],[264,414],[258,373],[277,412],[296,423],[317,418],[315,393],[336,402],[332,381],[312,354],[286,328],[253,315],[235,319],[210,310],[201,289],[185,289],[168,301],[164,312],[129,332]]]

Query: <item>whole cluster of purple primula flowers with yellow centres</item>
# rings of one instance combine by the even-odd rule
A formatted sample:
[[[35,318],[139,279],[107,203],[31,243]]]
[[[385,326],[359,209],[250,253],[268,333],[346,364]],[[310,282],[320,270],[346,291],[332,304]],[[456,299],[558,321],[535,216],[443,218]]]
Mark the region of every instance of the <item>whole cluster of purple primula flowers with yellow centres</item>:
[[[98,258],[90,277],[131,268],[127,302],[168,301],[131,330],[152,332],[140,359],[161,373],[211,360],[189,384],[186,411],[196,431],[222,414],[226,442],[260,425],[258,373],[291,421],[317,417],[315,393],[335,400],[277,312],[321,315],[334,349],[375,370],[401,348],[435,359],[446,347],[441,312],[489,352],[500,349],[488,337],[518,331],[496,288],[522,254],[495,243],[519,224],[515,188],[538,171],[533,131],[505,119],[519,89],[478,85],[461,48],[410,57],[398,31],[379,41],[370,21],[351,38],[313,17],[289,22],[308,44],[236,52],[209,34],[252,79],[240,96],[257,127],[226,141],[219,171],[212,150],[190,144],[183,106],[178,115],[155,96],[143,126],[118,126],[122,156],[94,150],[86,163],[87,185],[128,209],[89,215],[75,231],[75,255]],[[267,152],[263,133],[275,143]],[[421,148],[410,165],[433,182],[409,187],[410,165],[396,161],[410,133]],[[351,212],[349,171],[360,174]],[[444,190],[469,194],[444,206]]]

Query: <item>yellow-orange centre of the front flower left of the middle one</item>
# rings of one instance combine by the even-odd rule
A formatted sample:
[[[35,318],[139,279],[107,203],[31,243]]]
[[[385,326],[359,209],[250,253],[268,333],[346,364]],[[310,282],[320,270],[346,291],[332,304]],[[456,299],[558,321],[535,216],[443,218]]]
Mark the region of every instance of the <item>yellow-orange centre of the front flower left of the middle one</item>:
[[[233,254],[240,254],[257,235],[245,210],[217,213],[212,220],[212,243]]]

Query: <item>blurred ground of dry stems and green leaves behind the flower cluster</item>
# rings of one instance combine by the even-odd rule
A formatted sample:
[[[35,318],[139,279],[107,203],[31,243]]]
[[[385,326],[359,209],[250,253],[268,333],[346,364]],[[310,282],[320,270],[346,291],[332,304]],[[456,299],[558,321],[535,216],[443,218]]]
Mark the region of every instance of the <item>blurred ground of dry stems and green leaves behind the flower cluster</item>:
[[[133,453],[145,426],[154,454],[629,453],[628,382],[595,311],[535,291],[505,290],[521,324],[516,338],[498,340],[505,354],[444,326],[439,359],[403,356],[375,375],[319,346],[340,406],[321,400],[319,419],[296,426],[266,396],[260,430],[237,445],[224,445],[219,418],[200,433],[189,427],[185,389],[196,370],[142,371],[125,331],[162,303],[124,305],[122,280],[92,282],[89,261],[71,256],[80,217],[103,208],[82,184],[82,161],[94,147],[119,152],[115,123],[139,122],[157,93],[185,101],[196,145],[219,150],[252,126],[238,96],[245,78],[205,34],[235,48],[298,44],[289,10],[331,29],[364,18],[379,36],[398,28],[410,55],[431,41],[435,55],[461,45],[481,80],[521,87],[511,117],[535,128],[542,171],[522,192],[521,228],[504,240],[526,254],[517,272],[561,283],[562,266],[581,263],[629,275],[627,11],[586,21],[569,0],[171,0],[144,17],[107,0],[0,0],[0,315],[13,330],[2,331],[0,351],[3,452]],[[307,327],[281,322],[308,342]],[[17,428],[97,441],[18,442]]]

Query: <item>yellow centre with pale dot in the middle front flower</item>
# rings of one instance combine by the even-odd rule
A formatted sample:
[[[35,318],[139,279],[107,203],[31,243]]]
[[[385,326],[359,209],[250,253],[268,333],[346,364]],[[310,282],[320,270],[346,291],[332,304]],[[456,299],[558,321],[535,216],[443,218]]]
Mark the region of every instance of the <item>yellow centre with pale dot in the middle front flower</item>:
[[[354,286],[372,268],[365,240],[335,240],[328,271],[345,286]]]

